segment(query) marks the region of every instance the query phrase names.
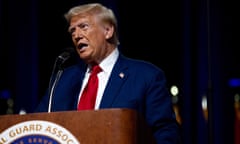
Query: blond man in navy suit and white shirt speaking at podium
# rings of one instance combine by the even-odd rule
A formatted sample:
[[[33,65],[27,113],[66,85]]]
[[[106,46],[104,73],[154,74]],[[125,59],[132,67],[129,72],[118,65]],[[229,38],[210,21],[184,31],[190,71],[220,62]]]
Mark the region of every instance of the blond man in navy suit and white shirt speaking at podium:
[[[73,7],[65,14],[79,63],[66,67],[54,96],[43,97],[36,112],[77,110],[91,67],[98,64],[95,110],[129,108],[146,120],[158,144],[176,144],[179,133],[164,72],[153,64],[123,56],[117,20],[101,4]]]

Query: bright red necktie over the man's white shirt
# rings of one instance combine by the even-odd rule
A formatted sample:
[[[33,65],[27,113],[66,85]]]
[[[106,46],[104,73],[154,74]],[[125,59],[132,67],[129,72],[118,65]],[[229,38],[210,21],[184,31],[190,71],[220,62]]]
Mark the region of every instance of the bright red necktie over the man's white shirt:
[[[94,109],[98,89],[97,74],[101,70],[101,67],[99,67],[98,65],[94,65],[92,67],[88,83],[83,90],[80,102],[78,104],[78,110]]]

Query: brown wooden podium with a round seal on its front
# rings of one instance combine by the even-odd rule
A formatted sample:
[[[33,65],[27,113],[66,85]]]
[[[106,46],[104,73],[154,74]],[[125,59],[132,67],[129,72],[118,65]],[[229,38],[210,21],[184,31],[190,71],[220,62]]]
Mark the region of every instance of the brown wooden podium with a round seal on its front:
[[[15,126],[28,121],[36,121],[36,124]],[[101,109],[2,115],[0,116],[0,144],[8,144],[9,138],[6,138],[3,134],[8,137],[16,137],[18,133],[35,132],[38,130],[38,127],[38,131],[40,131],[40,129],[43,129],[43,126],[42,124],[37,124],[38,121],[59,125],[69,131],[78,140],[79,144],[153,143],[146,125],[134,110]],[[9,130],[11,127],[12,130]],[[62,129],[59,130],[59,128],[54,127],[48,126],[44,133],[50,133],[66,141],[67,144],[72,144],[72,141],[67,141],[67,139],[70,139],[69,133],[64,135]]]

